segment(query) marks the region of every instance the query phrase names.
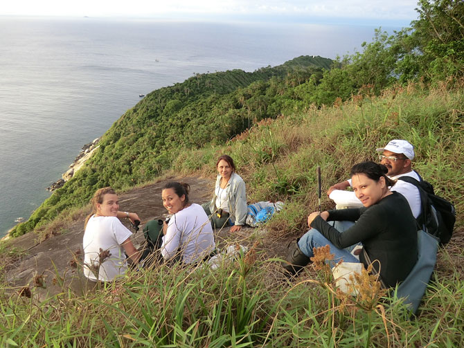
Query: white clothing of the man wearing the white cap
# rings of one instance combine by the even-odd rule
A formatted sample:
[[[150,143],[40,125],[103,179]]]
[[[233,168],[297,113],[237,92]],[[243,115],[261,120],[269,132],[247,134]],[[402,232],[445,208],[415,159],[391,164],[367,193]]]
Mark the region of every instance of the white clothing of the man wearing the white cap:
[[[411,178],[415,178],[416,180],[420,181],[420,178],[416,172],[411,170],[411,172],[407,172],[404,174],[400,174],[397,176],[389,176],[389,178],[393,180],[397,180],[400,176],[411,176]],[[351,185],[351,179],[348,179],[348,183]],[[417,219],[420,214],[420,193],[416,186],[411,183],[407,183],[406,181],[398,180],[396,181],[395,185],[391,187],[391,191],[396,191],[404,196],[409,203],[409,207],[411,208],[411,212],[413,216]],[[357,208],[362,207],[361,201],[357,199],[355,192],[353,191],[345,191],[345,190],[333,190],[329,198],[332,199],[335,203],[337,203],[337,207],[348,207],[348,208]]]

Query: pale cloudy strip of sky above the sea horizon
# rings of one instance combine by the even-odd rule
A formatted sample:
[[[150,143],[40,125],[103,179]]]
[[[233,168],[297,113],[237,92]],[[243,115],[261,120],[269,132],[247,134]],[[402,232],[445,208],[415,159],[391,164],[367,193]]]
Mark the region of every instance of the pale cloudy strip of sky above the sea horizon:
[[[0,15],[407,26],[418,0],[6,0]]]

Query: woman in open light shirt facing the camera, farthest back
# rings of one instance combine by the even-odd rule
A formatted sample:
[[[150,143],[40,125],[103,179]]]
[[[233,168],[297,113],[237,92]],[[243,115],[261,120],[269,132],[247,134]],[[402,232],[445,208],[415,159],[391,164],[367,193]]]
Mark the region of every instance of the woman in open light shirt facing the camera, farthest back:
[[[231,232],[240,231],[247,219],[245,182],[235,173],[231,156],[222,155],[216,162],[216,186],[211,202],[202,204],[216,228],[233,225]]]

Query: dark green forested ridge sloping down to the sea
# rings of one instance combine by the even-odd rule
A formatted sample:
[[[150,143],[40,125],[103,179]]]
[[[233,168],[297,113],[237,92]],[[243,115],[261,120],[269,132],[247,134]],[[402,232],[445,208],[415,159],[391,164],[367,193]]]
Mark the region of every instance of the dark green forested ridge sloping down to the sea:
[[[240,134],[263,118],[303,109],[297,86],[318,84],[331,59],[301,56],[252,73],[196,74],[148,94],[105,133],[100,148],[64,187],[56,190],[10,235],[21,235],[66,208],[87,204],[99,187],[130,187],[170,168],[183,148],[197,148]]]

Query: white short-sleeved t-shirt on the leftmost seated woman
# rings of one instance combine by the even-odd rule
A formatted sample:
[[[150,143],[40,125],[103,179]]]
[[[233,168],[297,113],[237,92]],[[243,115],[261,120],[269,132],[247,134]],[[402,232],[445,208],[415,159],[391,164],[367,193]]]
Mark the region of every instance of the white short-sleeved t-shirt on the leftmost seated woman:
[[[93,215],[84,232],[84,275],[89,280],[96,281],[98,273],[98,280],[104,282],[123,275],[127,270],[127,262],[121,244],[131,235],[132,232],[117,217]],[[109,251],[109,256],[102,264],[99,264],[100,248]]]

